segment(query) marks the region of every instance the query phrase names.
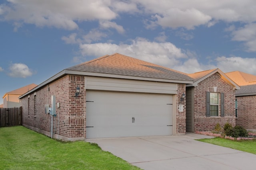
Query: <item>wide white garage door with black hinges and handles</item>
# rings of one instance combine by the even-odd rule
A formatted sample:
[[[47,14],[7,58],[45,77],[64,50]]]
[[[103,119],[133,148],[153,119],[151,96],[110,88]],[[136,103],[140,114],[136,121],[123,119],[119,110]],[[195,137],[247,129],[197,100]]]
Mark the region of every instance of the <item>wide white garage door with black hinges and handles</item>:
[[[172,135],[172,95],[86,92],[86,138]]]

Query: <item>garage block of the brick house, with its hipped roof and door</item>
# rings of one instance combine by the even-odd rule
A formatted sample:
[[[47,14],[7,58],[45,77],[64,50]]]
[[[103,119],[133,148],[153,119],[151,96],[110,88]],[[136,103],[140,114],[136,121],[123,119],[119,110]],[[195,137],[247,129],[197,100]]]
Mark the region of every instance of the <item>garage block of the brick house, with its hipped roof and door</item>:
[[[105,55],[66,68],[20,96],[23,125],[65,141],[184,135],[182,96],[192,82],[187,74],[170,68],[118,53]],[[54,107],[52,96],[54,116],[45,111],[47,104]]]

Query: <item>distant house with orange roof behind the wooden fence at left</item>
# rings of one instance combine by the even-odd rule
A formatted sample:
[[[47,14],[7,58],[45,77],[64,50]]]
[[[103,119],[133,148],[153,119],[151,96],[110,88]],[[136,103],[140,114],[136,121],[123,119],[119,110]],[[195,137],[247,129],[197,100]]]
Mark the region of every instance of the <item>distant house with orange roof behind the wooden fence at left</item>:
[[[35,88],[36,86],[37,86],[36,84],[29,84],[27,86],[7,92],[3,96],[3,102],[4,102],[3,107],[4,108],[20,107],[20,100],[18,98],[22,94],[28,92],[29,90]]]

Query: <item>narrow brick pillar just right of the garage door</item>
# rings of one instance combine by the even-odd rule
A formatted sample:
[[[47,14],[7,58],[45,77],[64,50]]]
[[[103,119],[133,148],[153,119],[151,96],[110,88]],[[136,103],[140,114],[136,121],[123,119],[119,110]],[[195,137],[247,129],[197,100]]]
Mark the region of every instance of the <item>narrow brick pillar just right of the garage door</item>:
[[[183,93],[186,94],[186,84],[178,84],[176,95],[176,135],[185,135],[186,133],[186,97],[184,101],[180,101]],[[183,111],[180,111],[180,105],[183,105]]]

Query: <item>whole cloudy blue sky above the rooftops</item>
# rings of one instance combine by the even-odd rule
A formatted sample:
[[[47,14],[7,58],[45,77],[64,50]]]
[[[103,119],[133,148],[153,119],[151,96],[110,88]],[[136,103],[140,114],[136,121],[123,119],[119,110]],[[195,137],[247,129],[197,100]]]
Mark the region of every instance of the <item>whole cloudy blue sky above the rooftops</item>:
[[[0,0],[0,30],[1,96],[113,53],[256,75],[255,0]]]

